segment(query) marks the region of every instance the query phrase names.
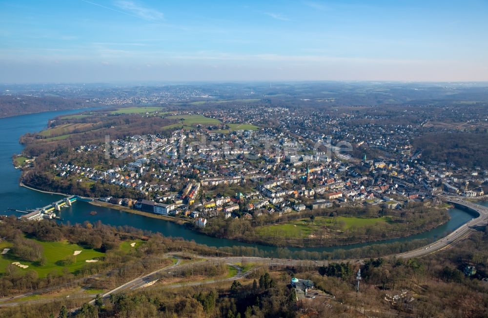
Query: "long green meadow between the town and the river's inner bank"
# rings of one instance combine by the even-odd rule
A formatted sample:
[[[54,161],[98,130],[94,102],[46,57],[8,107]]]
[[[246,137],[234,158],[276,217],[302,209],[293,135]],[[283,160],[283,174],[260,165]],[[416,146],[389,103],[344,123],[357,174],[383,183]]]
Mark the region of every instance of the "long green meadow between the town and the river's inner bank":
[[[316,217],[313,223],[310,219],[293,220],[287,223],[262,226],[256,228],[256,233],[261,236],[282,236],[286,238],[306,238],[318,232],[324,227],[337,225],[341,230],[351,230],[365,226],[387,223],[390,219],[384,218],[357,218],[357,217]]]

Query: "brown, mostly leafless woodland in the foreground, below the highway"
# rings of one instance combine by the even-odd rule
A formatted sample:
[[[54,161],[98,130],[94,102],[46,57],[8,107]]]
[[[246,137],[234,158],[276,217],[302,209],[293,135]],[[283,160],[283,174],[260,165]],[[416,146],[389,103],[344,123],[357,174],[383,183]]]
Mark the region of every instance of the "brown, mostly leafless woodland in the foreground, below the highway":
[[[238,281],[167,289],[164,283],[97,299],[94,305],[66,299],[45,305],[2,308],[0,315],[68,317],[340,317],[485,318],[488,312],[488,230],[439,253],[412,259],[371,258],[362,264],[258,268]],[[476,274],[463,274],[466,265]],[[356,293],[355,276],[362,280]],[[296,301],[291,277],[311,279],[325,297]],[[402,295],[395,302],[394,295]],[[319,299],[319,300],[318,300]],[[390,299],[390,300],[386,300]]]

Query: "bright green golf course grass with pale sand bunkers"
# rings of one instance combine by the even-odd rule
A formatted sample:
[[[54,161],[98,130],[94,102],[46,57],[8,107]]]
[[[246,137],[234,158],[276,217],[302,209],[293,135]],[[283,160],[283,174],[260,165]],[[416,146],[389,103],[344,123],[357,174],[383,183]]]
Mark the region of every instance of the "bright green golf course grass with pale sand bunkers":
[[[44,256],[47,260],[45,265],[36,265],[29,261],[17,259],[13,257],[11,252],[9,251],[5,255],[0,255],[0,273],[5,273],[7,270],[7,265],[15,261],[19,261],[23,265],[29,265],[29,267],[25,269],[17,267],[19,271],[27,272],[29,270],[35,270],[38,273],[39,277],[46,277],[47,274],[49,274],[50,272],[61,273],[63,268],[67,268],[69,272],[75,273],[82,266],[88,264],[87,262],[85,262],[85,260],[100,258],[105,255],[104,253],[98,252],[93,249],[85,249],[82,248],[80,245],[70,244],[67,241],[50,242],[37,239],[34,240],[40,243],[44,248]],[[9,242],[0,242],[0,248],[2,250],[3,248],[9,247],[11,245],[12,244]],[[57,263],[59,260],[73,255],[75,251],[81,251],[81,253],[76,256],[76,261],[73,264],[59,265]]]

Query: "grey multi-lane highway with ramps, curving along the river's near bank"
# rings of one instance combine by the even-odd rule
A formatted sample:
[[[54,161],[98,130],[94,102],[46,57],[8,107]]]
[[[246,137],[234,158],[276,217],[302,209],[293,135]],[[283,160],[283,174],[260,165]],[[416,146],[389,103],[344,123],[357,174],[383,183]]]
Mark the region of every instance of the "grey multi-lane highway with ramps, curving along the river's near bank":
[[[430,243],[427,246],[424,246],[422,248],[408,251],[405,253],[399,253],[399,254],[394,254],[394,255],[389,255],[385,256],[384,258],[419,258],[423,257],[438,251],[441,251],[453,243],[455,243],[458,240],[465,239],[466,237],[469,236],[470,233],[476,231],[479,227],[487,225],[487,220],[488,220],[488,207],[484,207],[482,205],[478,205],[475,203],[471,203],[468,201],[463,200],[461,197],[458,196],[439,196],[441,199],[444,199],[447,202],[451,202],[457,205],[463,205],[465,207],[468,207],[472,210],[475,210],[478,212],[479,216],[477,218],[473,218],[469,220],[466,224],[462,225],[458,229],[456,229],[454,232],[450,233],[446,237],[439,239],[433,243]],[[126,282],[122,284],[121,286],[114,288],[113,290],[105,293],[102,295],[103,298],[109,297],[111,294],[117,293],[117,292],[122,292],[122,291],[127,291],[127,290],[134,290],[137,288],[141,288],[145,284],[154,281],[158,278],[160,278],[159,274],[163,274],[163,272],[168,272],[167,274],[170,274],[171,269],[173,270],[181,270],[186,267],[190,266],[196,266],[199,264],[219,264],[222,262],[225,262],[229,265],[236,266],[234,264],[236,263],[241,263],[241,262],[247,262],[247,263],[253,263],[257,265],[262,265],[262,266],[326,266],[329,263],[338,263],[338,262],[344,262],[344,263],[362,263],[364,260],[362,259],[334,259],[334,260],[298,260],[298,259],[283,259],[283,258],[260,258],[260,257],[208,257],[208,256],[201,256],[201,255],[190,255],[188,253],[166,253],[164,256],[178,256],[181,254],[185,254],[187,256],[192,256],[194,258],[206,258],[203,260],[199,260],[196,262],[192,263],[186,263],[186,264],[181,264],[181,260],[178,259],[178,261],[171,265],[167,266],[164,268],[161,268],[159,270],[156,270],[152,273],[149,273],[147,275],[135,278],[129,282]],[[236,267],[237,268],[237,267]],[[210,284],[210,283],[215,283],[219,281],[230,281],[230,280],[235,280],[235,279],[240,279],[245,276],[246,273],[242,273],[241,269],[238,269],[238,274],[232,278],[225,278],[225,279],[216,279],[216,280],[206,280],[203,282],[186,282],[186,283],[179,283],[179,284],[172,284],[172,285],[166,285],[164,288],[178,288],[178,287],[183,287],[183,286],[196,286],[196,285],[203,285],[203,284]],[[24,294],[24,295],[19,295],[13,298],[0,298],[0,307],[3,305],[7,304],[1,304],[1,302],[7,301],[7,300],[12,300],[15,298],[22,298],[25,296],[29,296],[32,294],[39,294],[40,291],[29,293],[29,294]],[[95,300],[90,301],[90,303],[94,303]],[[25,303],[24,301],[19,301],[19,302],[14,302],[14,304],[20,304],[20,303]],[[12,302],[9,302],[8,305],[12,305]]]

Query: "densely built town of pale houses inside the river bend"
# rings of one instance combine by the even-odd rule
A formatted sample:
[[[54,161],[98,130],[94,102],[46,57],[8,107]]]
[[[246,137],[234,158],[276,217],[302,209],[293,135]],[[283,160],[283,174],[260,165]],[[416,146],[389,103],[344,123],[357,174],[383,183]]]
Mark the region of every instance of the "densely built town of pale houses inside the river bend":
[[[422,159],[422,149],[414,149],[413,139],[425,122],[385,125],[376,121],[388,119],[378,117],[358,129],[349,124],[358,116],[354,112],[332,117],[286,107],[162,115],[192,116],[216,124],[197,123],[79,145],[72,151],[103,155],[123,164],[86,166],[60,160],[53,164],[54,172],[58,178],[94,189],[111,185],[130,190],[131,197],[110,190],[114,194],[97,199],[194,219],[197,228],[214,218],[279,219],[307,211],[324,213],[333,207],[372,209],[383,215],[412,206],[438,206],[436,195],[443,193],[468,198],[484,195],[486,168]],[[327,126],[333,127],[330,134],[313,128]],[[372,150],[387,155],[370,159]]]

